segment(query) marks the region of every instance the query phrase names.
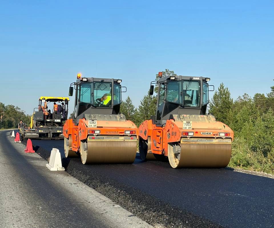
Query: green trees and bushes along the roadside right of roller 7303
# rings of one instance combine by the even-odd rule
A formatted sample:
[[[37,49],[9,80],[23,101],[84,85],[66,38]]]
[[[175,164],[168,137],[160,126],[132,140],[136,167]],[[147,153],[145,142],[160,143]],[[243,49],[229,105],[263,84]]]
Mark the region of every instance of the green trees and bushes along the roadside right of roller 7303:
[[[230,167],[274,173],[274,86],[270,89],[235,101],[223,83],[215,91],[209,111],[235,134]]]

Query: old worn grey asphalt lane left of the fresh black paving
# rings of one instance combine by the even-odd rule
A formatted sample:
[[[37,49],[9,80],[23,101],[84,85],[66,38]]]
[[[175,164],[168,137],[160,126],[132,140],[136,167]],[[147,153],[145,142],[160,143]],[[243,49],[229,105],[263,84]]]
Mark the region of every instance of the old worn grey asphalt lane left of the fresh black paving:
[[[0,227],[151,227],[0,131]]]

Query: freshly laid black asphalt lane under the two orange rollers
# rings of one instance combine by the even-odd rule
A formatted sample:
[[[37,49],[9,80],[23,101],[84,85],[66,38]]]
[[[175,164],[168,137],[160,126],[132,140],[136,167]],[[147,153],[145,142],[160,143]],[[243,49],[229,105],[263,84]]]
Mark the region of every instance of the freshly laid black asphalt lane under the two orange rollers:
[[[64,156],[63,140],[32,141],[44,158],[53,147]],[[172,169],[167,162],[142,162],[138,155],[131,165],[82,165],[80,158],[63,163],[78,180],[151,224],[274,227],[271,178],[228,169]]]

